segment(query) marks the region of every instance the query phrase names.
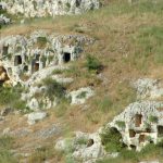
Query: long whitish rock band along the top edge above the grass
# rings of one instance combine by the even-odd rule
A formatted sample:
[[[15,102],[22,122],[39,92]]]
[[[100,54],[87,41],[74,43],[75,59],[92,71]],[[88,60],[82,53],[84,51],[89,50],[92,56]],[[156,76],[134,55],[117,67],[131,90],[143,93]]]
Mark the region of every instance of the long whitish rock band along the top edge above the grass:
[[[7,11],[25,17],[82,14],[100,8],[98,0],[11,0]]]

